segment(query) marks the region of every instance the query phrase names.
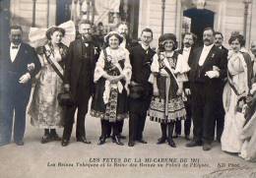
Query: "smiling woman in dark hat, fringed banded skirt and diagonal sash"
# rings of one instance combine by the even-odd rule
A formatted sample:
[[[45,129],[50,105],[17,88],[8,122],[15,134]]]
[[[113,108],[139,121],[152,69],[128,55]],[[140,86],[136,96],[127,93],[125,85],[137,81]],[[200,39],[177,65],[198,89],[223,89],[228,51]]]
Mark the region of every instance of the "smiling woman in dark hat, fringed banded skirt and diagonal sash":
[[[151,66],[154,75],[154,96],[149,115],[152,121],[160,123],[161,137],[157,144],[167,141],[170,147],[175,148],[172,140],[173,128],[177,119],[185,119],[186,116],[181,94],[183,82],[187,81],[185,73],[190,68],[184,63],[185,60],[180,58],[181,55],[174,51],[177,47],[174,34],[161,35],[159,46],[160,52],[155,54]]]

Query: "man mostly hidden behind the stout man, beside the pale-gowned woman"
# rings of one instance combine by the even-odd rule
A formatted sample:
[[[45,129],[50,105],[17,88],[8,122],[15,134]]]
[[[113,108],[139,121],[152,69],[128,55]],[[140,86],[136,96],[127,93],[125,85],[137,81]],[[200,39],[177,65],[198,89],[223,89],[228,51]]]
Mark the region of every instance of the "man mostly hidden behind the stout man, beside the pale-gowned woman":
[[[215,46],[219,47],[222,50],[222,66],[224,69],[221,71],[223,73],[224,79],[222,80],[222,84],[219,89],[218,94],[218,102],[216,104],[217,108],[215,109],[216,114],[216,136],[217,141],[221,143],[221,137],[224,131],[224,102],[223,102],[223,92],[224,92],[224,84],[226,82],[226,68],[227,68],[227,52],[228,50],[223,45],[224,35],[220,31],[215,32]]]

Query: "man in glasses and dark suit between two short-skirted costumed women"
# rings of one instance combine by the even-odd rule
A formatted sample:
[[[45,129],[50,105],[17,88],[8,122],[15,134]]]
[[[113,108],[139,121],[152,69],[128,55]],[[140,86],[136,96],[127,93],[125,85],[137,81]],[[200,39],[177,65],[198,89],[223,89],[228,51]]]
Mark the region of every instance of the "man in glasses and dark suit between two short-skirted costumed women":
[[[132,65],[132,86],[142,86],[144,93],[139,98],[129,99],[129,147],[134,147],[135,141],[147,144],[143,140],[143,131],[147,117],[147,110],[150,107],[153,86],[148,82],[151,74],[151,64],[155,51],[150,47],[153,40],[153,31],[144,29],[141,33],[141,44],[130,51]]]

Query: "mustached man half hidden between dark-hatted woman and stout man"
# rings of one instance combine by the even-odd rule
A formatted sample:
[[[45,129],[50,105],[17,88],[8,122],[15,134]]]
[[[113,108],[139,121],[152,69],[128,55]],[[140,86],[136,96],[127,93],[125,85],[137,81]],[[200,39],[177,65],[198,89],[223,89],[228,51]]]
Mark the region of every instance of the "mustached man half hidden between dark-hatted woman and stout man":
[[[191,32],[184,33],[183,36],[183,47],[182,49],[179,49],[178,52],[183,56],[183,60],[186,60],[187,62],[191,60],[191,54],[194,49],[196,41],[196,35]],[[188,75],[188,73],[187,73]],[[183,84],[183,89],[185,92],[186,100],[184,101],[185,108],[186,108],[186,120],[184,121],[184,133],[185,133],[185,139],[189,140],[190,135],[190,128],[191,128],[191,91],[190,91],[190,85],[189,82],[185,82]],[[177,138],[179,135],[181,135],[181,120],[176,121],[175,123],[175,136],[173,138]]]

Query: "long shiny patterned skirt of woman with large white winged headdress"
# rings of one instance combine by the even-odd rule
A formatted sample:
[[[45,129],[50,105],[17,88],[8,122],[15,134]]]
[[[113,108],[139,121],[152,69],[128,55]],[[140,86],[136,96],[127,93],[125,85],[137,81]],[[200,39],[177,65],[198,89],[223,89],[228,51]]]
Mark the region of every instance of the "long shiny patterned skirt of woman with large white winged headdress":
[[[63,127],[64,111],[57,100],[62,91],[62,80],[50,65],[44,66],[35,82],[29,108],[32,126],[42,129]]]

